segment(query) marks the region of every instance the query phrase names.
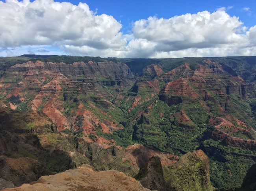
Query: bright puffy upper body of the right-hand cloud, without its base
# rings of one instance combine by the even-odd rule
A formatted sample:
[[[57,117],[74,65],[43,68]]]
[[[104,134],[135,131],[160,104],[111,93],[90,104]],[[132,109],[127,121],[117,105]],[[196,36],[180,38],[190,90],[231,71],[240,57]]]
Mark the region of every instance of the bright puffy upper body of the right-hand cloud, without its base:
[[[237,17],[224,11],[203,11],[169,19],[149,17],[136,21],[133,31],[136,38],[156,41],[171,51],[237,42],[242,39],[236,33],[241,25]]]

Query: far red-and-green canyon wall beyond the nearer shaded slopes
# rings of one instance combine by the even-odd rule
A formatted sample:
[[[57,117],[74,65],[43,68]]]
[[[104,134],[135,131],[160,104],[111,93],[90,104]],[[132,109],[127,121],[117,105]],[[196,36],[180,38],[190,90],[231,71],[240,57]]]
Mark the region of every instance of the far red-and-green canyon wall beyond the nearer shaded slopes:
[[[41,113],[58,137],[175,156],[202,149],[217,188],[240,187],[255,163],[255,56],[0,58],[0,70],[6,106]],[[50,137],[40,135],[43,147]]]

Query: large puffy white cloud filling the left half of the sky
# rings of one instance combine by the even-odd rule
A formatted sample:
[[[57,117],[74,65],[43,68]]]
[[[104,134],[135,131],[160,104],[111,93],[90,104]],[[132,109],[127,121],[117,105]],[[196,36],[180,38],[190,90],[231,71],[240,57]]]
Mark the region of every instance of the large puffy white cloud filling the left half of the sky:
[[[122,25],[112,16],[95,15],[87,4],[53,0],[0,1],[0,47],[20,45],[87,45],[119,49]]]

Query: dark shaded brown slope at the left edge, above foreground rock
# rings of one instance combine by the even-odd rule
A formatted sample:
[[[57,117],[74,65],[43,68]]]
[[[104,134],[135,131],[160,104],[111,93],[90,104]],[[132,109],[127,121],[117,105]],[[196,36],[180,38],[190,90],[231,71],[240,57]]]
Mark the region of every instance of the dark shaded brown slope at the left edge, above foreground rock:
[[[4,111],[5,110],[5,111]],[[0,110],[0,177],[19,186],[40,176],[74,168],[66,151],[46,151],[37,133],[53,133],[56,127],[37,113]],[[62,163],[52,164],[52,158]],[[53,167],[54,165],[54,167]]]

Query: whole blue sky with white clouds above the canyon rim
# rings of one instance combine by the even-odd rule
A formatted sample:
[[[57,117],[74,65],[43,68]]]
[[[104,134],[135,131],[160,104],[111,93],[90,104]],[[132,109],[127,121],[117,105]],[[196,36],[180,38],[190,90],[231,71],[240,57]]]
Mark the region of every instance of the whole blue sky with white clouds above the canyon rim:
[[[254,0],[0,0],[0,56],[256,55]]]

